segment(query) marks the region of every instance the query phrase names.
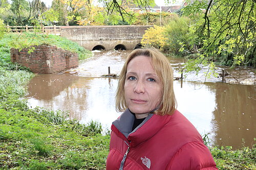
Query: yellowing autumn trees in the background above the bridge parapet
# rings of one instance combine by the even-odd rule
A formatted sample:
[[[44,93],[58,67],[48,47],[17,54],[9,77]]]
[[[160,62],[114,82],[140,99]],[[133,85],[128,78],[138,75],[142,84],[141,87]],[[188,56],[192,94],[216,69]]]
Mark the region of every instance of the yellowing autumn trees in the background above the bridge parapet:
[[[59,22],[65,25],[118,25],[131,24],[138,18],[138,13],[131,10],[131,7],[150,8],[154,6],[151,1],[82,1],[82,0],[54,0],[52,7],[54,11],[59,11]],[[100,3],[103,7],[95,4]]]

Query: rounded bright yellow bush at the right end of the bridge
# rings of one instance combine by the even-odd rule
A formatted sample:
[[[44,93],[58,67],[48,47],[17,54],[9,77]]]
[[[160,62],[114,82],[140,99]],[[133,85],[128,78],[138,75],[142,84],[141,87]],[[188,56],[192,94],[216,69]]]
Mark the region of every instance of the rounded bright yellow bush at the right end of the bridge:
[[[154,46],[162,49],[166,45],[167,38],[164,36],[164,27],[156,26],[151,27],[145,31],[142,37],[141,44],[144,46]]]

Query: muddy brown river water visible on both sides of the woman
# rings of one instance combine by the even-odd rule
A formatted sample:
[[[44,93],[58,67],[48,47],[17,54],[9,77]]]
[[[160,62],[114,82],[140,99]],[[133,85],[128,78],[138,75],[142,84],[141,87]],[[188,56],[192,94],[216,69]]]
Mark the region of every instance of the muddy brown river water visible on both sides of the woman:
[[[36,75],[28,84],[29,105],[69,111],[70,118],[80,123],[97,120],[103,128],[110,129],[113,120],[120,115],[115,110],[118,79],[101,75],[108,74],[108,66],[111,73],[119,74],[130,52],[94,52],[94,57],[80,63],[76,69],[62,74]],[[168,59],[175,77],[180,77],[183,59]],[[243,80],[255,81],[255,74],[249,69],[233,72],[240,72]],[[200,72],[198,76],[187,75],[185,81],[174,81],[178,110],[200,134],[210,133],[212,143],[233,148],[251,147],[256,137],[256,85],[223,83],[214,77],[204,80]]]

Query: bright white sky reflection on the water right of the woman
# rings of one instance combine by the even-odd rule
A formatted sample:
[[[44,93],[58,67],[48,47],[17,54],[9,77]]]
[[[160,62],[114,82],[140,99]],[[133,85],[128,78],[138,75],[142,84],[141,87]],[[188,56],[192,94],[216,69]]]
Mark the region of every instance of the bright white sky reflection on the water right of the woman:
[[[197,128],[200,134],[212,131],[212,111],[215,108],[215,92],[200,82],[174,82],[177,109]]]

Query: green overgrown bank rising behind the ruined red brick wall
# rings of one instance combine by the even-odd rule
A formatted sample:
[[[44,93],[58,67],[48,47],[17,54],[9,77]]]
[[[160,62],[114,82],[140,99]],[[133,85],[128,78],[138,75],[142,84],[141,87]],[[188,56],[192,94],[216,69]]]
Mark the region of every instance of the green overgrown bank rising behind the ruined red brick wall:
[[[17,63],[11,63],[10,48],[14,47],[21,50],[28,47],[33,51],[31,45],[56,45],[64,50],[77,53],[79,60],[84,60],[93,55],[89,50],[64,37],[39,33],[7,33],[0,39],[0,67],[10,70],[27,69]]]

